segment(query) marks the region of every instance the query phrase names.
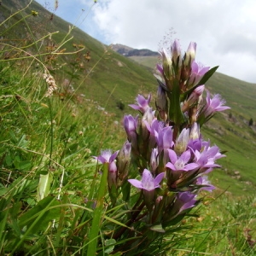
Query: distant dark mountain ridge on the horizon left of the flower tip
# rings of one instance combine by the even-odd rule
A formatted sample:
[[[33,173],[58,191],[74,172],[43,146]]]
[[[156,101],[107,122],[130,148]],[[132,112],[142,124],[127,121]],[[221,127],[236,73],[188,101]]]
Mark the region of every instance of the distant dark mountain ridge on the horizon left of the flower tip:
[[[131,56],[159,56],[159,53],[150,49],[133,49],[123,44],[111,44],[110,47],[120,55]]]

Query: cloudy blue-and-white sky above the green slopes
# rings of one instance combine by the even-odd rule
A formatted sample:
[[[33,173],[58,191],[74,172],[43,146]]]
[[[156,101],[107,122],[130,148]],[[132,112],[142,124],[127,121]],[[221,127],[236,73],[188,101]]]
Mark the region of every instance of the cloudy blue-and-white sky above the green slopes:
[[[95,3],[96,1],[96,3]],[[256,84],[255,0],[37,0],[103,44],[160,51],[196,42],[195,61]]]

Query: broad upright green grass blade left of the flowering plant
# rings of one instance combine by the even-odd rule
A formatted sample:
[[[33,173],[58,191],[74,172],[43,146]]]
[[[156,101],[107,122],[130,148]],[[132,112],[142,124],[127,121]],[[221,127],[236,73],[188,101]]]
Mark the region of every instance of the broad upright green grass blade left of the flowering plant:
[[[96,246],[97,246],[96,237],[99,234],[100,223],[102,219],[102,210],[104,205],[104,197],[106,194],[107,181],[108,181],[108,163],[105,163],[103,165],[102,179],[101,179],[100,187],[98,190],[96,209],[94,211],[94,216],[92,219],[92,224],[90,229],[90,236],[89,236],[90,244],[88,246],[87,256],[96,255]]]

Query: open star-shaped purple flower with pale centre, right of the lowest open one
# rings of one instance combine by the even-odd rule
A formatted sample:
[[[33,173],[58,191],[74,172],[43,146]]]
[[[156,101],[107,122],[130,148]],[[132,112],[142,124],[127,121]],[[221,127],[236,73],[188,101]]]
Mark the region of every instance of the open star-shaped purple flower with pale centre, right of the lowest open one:
[[[176,152],[172,149],[168,149],[168,152],[171,162],[168,162],[166,167],[172,171],[190,171],[198,167],[195,163],[188,164],[191,158],[190,150],[183,152],[180,157],[177,157]]]

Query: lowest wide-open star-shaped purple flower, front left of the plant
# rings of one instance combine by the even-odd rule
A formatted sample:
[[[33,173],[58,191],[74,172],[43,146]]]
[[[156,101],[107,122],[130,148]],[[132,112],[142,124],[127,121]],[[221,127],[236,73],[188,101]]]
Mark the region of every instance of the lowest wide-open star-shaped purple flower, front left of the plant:
[[[160,188],[160,182],[162,181],[164,176],[165,173],[161,172],[158,176],[153,177],[150,171],[144,169],[142,181],[139,181],[137,179],[128,179],[128,181],[137,189],[152,191],[156,188]]]

